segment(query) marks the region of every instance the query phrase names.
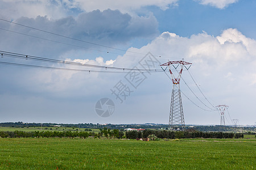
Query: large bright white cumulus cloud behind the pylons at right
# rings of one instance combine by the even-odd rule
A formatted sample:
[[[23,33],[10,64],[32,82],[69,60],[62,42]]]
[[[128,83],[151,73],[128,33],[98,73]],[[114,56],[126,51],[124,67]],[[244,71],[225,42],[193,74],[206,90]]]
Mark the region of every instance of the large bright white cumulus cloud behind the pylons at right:
[[[255,42],[255,40],[249,39],[237,29],[233,28],[224,30],[222,34],[217,37],[208,35],[206,32],[192,35],[189,38],[164,32],[141,49],[136,50],[131,48],[129,50],[138,53],[147,53],[150,51],[156,56],[162,56],[158,57],[159,61],[162,63],[167,62],[167,59],[175,61],[182,58],[184,58],[185,61],[192,62],[191,73],[195,75],[194,78],[196,78],[196,82],[201,84],[204,94],[213,100],[212,103],[216,105],[230,105],[229,111],[232,118],[238,118],[241,122],[246,122],[255,119],[255,116],[253,116],[254,109],[250,105],[256,100],[254,96],[254,94],[256,94],[256,70],[254,69],[256,62],[256,53],[254,50],[256,49]],[[138,58],[138,56],[137,58],[130,57],[128,54],[129,53],[127,53],[127,56],[117,58],[114,65],[122,65],[122,63],[125,63],[126,66],[136,65],[140,58]],[[131,62],[130,59],[133,62]],[[170,99],[170,93],[168,95],[166,94],[167,91],[170,92],[170,86],[163,88],[163,83],[170,83],[171,85],[171,82],[164,76],[154,76],[154,80],[148,85],[152,96],[154,93],[155,95],[162,94],[161,99],[157,99],[158,101],[162,100],[164,97],[166,97],[166,100]],[[192,87],[193,91],[197,92],[198,96],[201,96],[185,70],[183,77],[189,86]],[[194,102],[202,107],[204,106],[192,95],[191,91],[188,90],[182,80],[181,89]],[[145,89],[145,91],[147,90]],[[147,97],[147,99],[154,100],[154,97],[152,97],[152,99]],[[204,100],[203,96],[201,96],[201,100]],[[192,120],[195,117],[201,117],[201,120],[204,120],[205,124],[207,124],[207,122],[210,123],[210,120],[207,119],[213,116],[213,113],[210,114],[197,109],[197,107],[191,104],[184,96],[183,102],[185,120],[188,120],[187,123],[202,124],[202,122],[197,120],[193,122]],[[204,102],[208,104],[207,101],[204,100]],[[162,107],[166,108],[167,112],[170,106],[168,104],[158,105],[158,108]],[[246,108],[246,111],[244,108]],[[151,109],[154,109],[154,107]],[[241,112],[250,118],[246,120],[246,118],[241,117]],[[215,118],[213,116],[213,120],[216,121],[216,124],[219,123],[218,114],[216,114]],[[195,121],[197,121],[197,123]],[[252,123],[253,122],[250,124]]]

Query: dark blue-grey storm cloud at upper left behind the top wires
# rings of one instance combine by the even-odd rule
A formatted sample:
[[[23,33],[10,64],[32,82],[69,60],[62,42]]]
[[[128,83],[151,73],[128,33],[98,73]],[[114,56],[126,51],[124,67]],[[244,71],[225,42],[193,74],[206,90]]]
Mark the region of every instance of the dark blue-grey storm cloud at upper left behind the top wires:
[[[126,44],[126,42],[134,38],[152,37],[158,33],[158,22],[154,16],[131,16],[129,14],[122,14],[118,10],[113,11],[110,9],[84,12],[77,16],[77,18],[68,16],[57,20],[50,20],[47,16],[38,16],[35,19],[22,17],[14,22],[72,37],[73,39],[109,46]],[[84,42],[65,39],[35,29],[21,27],[20,25],[6,25],[3,21],[0,22],[0,27],[67,44],[84,47],[92,46]],[[5,39],[5,41],[0,42],[2,49],[15,50],[16,52],[22,51],[42,54],[45,51],[44,53],[51,53],[57,56],[60,52],[63,53],[75,48],[74,46],[58,44],[56,42],[36,39],[35,37],[19,35],[3,30],[0,30],[0,35],[2,39]],[[100,49],[100,46],[94,46],[94,48]]]

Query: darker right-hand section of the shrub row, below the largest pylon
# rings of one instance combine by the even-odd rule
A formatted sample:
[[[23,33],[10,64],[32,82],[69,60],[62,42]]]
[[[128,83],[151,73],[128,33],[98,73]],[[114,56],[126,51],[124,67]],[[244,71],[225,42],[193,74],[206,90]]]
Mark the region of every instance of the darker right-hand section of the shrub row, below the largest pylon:
[[[223,132],[188,132],[188,131],[170,131],[170,130],[144,130],[141,131],[126,131],[126,137],[129,139],[147,138],[148,135],[154,134],[158,138],[181,139],[181,138],[243,138],[243,134],[223,133]]]

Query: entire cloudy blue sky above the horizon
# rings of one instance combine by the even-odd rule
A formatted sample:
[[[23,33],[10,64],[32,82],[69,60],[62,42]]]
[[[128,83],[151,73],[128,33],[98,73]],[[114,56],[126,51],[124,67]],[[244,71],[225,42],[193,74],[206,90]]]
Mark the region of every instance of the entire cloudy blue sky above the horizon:
[[[184,59],[192,63],[180,81],[185,124],[220,125],[213,110],[225,104],[227,125],[255,125],[255,8],[253,0],[1,0],[1,53],[104,68],[3,55],[0,122],[168,124],[170,73],[127,68]],[[115,95],[121,87],[125,95]]]

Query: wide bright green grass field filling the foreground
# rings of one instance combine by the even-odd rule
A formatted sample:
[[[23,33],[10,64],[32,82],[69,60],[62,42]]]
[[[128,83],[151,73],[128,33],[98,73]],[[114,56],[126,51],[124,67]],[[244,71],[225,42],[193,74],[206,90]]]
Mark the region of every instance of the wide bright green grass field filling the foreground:
[[[0,169],[255,169],[255,139],[0,138]]]

